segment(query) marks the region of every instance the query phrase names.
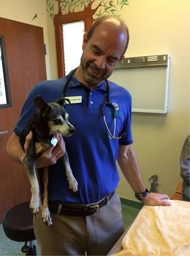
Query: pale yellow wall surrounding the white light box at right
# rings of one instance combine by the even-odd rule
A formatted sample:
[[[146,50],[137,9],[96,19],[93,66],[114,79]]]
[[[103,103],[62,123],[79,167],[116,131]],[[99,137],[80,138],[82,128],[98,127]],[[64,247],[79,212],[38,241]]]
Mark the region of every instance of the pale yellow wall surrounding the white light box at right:
[[[189,10],[189,0],[131,0],[121,12],[130,32],[126,56],[171,56],[168,113],[133,113],[134,148],[145,185],[150,188],[148,179],[157,174],[159,191],[170,196],[180,180],[180,151],[189,134]],[[134,199],[123,177],[118,192]]]

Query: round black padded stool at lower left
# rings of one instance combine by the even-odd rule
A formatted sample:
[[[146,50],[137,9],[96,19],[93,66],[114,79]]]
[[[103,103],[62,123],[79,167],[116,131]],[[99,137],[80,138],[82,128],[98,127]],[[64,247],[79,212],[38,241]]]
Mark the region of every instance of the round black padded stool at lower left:
[[[33,213],[29,204],[24,202],[9,209],[3,216],[3,230],[11,240],[25,242],[22,252],[26,252],[26,255],[36,255],[36,246],[33,244],[36,240],[33,230]]]

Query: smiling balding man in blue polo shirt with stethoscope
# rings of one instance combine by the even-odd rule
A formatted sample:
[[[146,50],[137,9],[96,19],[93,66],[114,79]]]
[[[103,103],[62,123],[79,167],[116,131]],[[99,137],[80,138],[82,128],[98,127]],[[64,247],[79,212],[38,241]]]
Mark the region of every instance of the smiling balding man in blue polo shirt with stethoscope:
[[[64,139],[57,136],[57,146],[45,150],[36,164],[37,168],[49,166],[53,222],[47,227],[40,214],[34,216],[41,255],[106,255],[110,251],[124,231],[121,202],[115,193],[119,183],[116,161],[143,204],[170,205],[167,195],[149,193],[140,176],[132,147],[131,95],[106,81],[124,58],[128,42],[128,28],[121,19],[105,16],[94,22],[89,33],[84,34],[80,66],[66,77],[34,87],[8,141],[8,154],[22,163],[25,153],[18,137],[34,114],[34,96],[41,95],[46,102],[54,102],[61,95],[77,97],[75,103],[65,106],[75,134]],[[31,136],[27,136],[25,148]],[[78,181],[77,193],[68,188],[59,161],[65,146]],[[69,212],[64,211],[65,204],[69,204]]]

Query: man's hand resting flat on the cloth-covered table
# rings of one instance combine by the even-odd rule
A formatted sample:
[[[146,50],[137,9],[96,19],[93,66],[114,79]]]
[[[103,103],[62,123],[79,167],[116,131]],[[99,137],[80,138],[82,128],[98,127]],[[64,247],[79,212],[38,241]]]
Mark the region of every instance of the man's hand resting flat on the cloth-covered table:
[[[167,195],[157,194],[157,193],[149,193],[145,198],[142,200],[143,204],[145,205],[171,205],[170,198]]]

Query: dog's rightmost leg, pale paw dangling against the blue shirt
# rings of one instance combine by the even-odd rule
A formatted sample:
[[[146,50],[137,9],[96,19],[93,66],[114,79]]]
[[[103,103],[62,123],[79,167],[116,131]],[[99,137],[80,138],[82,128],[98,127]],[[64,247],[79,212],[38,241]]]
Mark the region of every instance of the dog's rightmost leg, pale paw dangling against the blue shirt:
[[[65,166],[66,169],[66,177],[68,179],[69,182],[69,188],[73,190],[73,192],[77,192],[78,190],[78,182],[75,179],[75,177],[73,176],[73,172],[71,170],[71,166],[69,164],[69,157],[67,152],[65,152],[64,156],[61,157],[62,163]]]

